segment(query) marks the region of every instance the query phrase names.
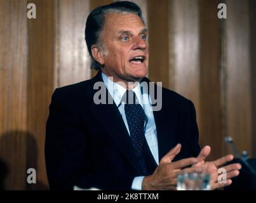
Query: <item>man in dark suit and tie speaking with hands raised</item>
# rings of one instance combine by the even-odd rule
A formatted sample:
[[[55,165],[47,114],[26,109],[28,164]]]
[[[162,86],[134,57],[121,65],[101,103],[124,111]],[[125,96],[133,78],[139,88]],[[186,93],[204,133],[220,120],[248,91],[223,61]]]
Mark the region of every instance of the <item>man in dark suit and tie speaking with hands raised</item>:
[[[205,162],[210,147],[200,152],[191,101],[163,88],[161,109],[153,111],[154,96],[142,86],[149,84],[149,45],[137,4],[91,11],[85,37],[99,71],[53,93],[45,145],[50,188],[175,190],[178,173],[193,171],[210,173],[212,189],[230,185],[241,166],[225,166],[227,182],[217,182],[217,170],[233,157]],[[98,82],[114,102],[95,100]]]

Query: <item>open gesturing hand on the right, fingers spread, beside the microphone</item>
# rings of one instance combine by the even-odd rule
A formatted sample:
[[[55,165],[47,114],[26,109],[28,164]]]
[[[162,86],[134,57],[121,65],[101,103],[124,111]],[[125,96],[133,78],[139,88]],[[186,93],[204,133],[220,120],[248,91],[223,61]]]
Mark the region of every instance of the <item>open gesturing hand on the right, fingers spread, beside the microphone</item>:
[[[209,173],[211,177],[211,189],[215,190],[217,188],[226,187],[227,185],[231,185],[231,178],[238,176],[239,169],[241,169],[241,164],[229,164],[224,166],[227,162],[234,159],[233,155],[229,154],[220,159],[213,160],[210,162],[206,162],[205,159],[210,154],[211,148],[209,146],[205,146],[198,155],[199,162],[194,164],[192,167],[198,169],[198,171],[202,171],[205,173]],[[224,167],[222,167],[224,166]],[[218,170],[223,168],[226,170],[227,180],[226,183],[218,183]]]

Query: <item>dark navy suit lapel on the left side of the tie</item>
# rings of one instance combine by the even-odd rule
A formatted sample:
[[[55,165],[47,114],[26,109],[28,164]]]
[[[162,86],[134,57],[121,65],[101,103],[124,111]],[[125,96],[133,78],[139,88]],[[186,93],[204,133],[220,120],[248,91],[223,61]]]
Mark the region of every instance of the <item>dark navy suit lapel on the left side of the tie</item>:
[[[92,84],[95,84],[95,82],[98,81],[103,82],[100,71],[98,72],[97,76],[92,79]],[[93,89],[93,87],[91,89]],[[88,95],[91,97],[96,92],[97,90],[93,89],[93,93],[89,93]],[[107,91],[107,96],[111,97],[109,91]],[[130,161],[131,165],[134,167],[137,173],[141,174],[142,171],[139,167],[140,165],[133,150],[130,135],[128,134],[125,123],[123,122],[123,118],[121,117],[116,104],[112,103],[97,105],[93,102],[90,108],[91,112],[93,112],[105,131],[107,131],[107,133],[111,136],[112,140],[119,148],[121,153],[126,157],[126,159]]]

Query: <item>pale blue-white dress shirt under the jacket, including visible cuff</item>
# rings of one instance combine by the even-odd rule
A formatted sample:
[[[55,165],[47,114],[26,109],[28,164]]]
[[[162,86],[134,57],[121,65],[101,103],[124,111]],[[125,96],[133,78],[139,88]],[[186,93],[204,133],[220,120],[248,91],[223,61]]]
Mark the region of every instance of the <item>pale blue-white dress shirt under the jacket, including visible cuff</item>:
[[[112,96],[114,103],[118,107],[118,110],[125,122],[126,129],[130,134],[129,127],[126,120],[125,115],[125,103],[121,101],[123,95],[126,92],[126,89],[123,88],[120,84],[113,82],[107,75],[102,72],[102,79],[104,81],[107,90],[109,91],[110,95]],[[152,112],[151,106],[151,99],[148,94],[145,94],[144,87],[137,85],[135,88],[132,89],[137,96],[138,103],[142,106],[145,112],[145,124],[144,124],[144,132],[145,138],[147,140],[147,144],[151,150],[151,153],[156,160],[156,163],[159,164],[158,158],[158,138],[156,133],[156,124],[154,121],[154,114]],[[143,94],[144,92],[144,94]],[[133,179],[133,183],[131,185],[131,189],[133,190],[142,190],[142,181],[144,176],[137,176]]]

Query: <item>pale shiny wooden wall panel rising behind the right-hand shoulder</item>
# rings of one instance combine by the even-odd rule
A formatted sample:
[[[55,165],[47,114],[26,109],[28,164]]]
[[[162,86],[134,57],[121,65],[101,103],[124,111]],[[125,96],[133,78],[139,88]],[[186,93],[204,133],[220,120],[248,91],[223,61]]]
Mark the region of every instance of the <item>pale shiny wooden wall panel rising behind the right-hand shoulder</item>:
[[[173,89],[192,100],[200,127],[198,1],[173,0],[171,8]]]

